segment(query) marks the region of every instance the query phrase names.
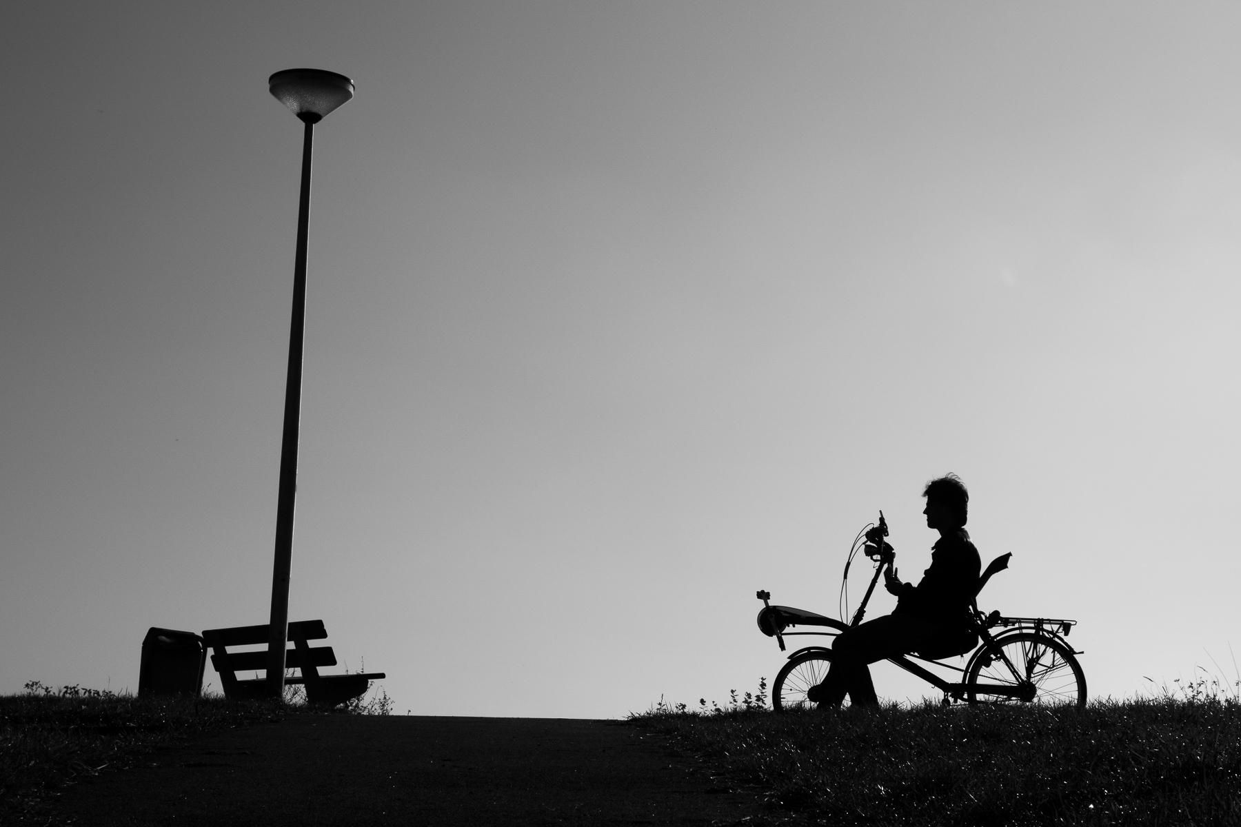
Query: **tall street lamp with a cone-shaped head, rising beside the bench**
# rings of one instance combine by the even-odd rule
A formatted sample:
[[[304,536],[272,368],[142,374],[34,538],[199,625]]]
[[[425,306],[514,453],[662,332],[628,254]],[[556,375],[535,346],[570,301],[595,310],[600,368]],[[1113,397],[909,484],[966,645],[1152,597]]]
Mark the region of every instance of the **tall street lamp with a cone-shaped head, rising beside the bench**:
[[[276,565],[272,570],[272,624],[267,642],[267,692],[284,697],[284,647],[289,626],[289,567],[293,562],[293,511],[298,490],[298,430],[302,423],[302,341],[307,311],[307,236],[310,224],[310,156],[314,125],[354,97],[354,82],[323,69],[284,69],[267,79],[277,100],[305,124],[302,143],[302,200],[298,253],[293,265],[293,320],[289,324],[289,373],[284,386],[284,438],[280,443],[280,496],[276,506]]]

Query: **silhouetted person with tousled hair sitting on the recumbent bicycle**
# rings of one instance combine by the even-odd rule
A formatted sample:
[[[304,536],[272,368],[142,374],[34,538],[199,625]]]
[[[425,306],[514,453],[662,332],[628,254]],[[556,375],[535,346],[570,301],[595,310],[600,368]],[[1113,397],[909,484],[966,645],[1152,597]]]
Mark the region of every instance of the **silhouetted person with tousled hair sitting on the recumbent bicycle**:
[[[978,549],[965,531],[969,492],[961,477],[948,474],[931,480],[922,496],[927,528],[939,532],[931,547],[931,568],[917,585],[901,583],[891,568],[884,573],[884,586],[898,598],[896,609],[836,636],[828,677],[805,693],[810,702],[839,707],[848,693],[854,705],[879,705],[870,663],[917,651],[965,625],[982,572]]]

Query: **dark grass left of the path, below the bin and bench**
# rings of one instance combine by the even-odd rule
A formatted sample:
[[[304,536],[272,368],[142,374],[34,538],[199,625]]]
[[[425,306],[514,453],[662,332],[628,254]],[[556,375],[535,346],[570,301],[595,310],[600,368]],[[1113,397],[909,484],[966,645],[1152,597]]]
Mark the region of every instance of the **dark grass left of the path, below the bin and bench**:
[[[390,714],[392,702],[382,689],[367,696],[335,712]],[[0,823],[47,823],[50,800],[61,790],[133,766],[168,741],[288,714],[325,713],[298,703],[292,691],[285,703],[221,696],[137,698],[31,681],[24,694],[0,696]]]

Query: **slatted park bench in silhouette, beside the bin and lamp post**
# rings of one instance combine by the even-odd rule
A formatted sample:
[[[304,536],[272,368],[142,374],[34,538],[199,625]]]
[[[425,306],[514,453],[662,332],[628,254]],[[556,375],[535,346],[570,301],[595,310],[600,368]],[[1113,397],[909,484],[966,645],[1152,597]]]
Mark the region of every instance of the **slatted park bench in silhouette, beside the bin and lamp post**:
[[[267,624],[235,626],[233,629],[208,629],[202,640],[211,647],[211,665],[220,673],[226,698],[267,697],[267,678],[241,679],[237,672],[266,672],[268,640]],[[288,640],[293,648],[284,655],[284,666],[298,670],[300,676],[285,677],[285,683],[305,686],[307,701],[335,707],[366,692],[371,681],[387,677],[382,672],[367,674],[319,674],[319,667],[335,666],[336,655],[331,646],[310,646],[309,641],[324,640],[328,630],[321,620],[300,620],[289,624]],[[264,648],[248,652],[230,652],[230,646],[257,646]]]

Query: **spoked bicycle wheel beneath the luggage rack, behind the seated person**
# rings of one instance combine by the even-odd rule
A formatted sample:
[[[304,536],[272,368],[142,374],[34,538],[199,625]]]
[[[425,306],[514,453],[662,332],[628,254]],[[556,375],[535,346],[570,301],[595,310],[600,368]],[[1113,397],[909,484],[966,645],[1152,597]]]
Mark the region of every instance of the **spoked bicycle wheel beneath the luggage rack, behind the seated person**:
[[[1059,640],[1019,632],[992,642],[974,658],[965,697],[969,703],[1065,703],[1085,709],[1086,674]]]

